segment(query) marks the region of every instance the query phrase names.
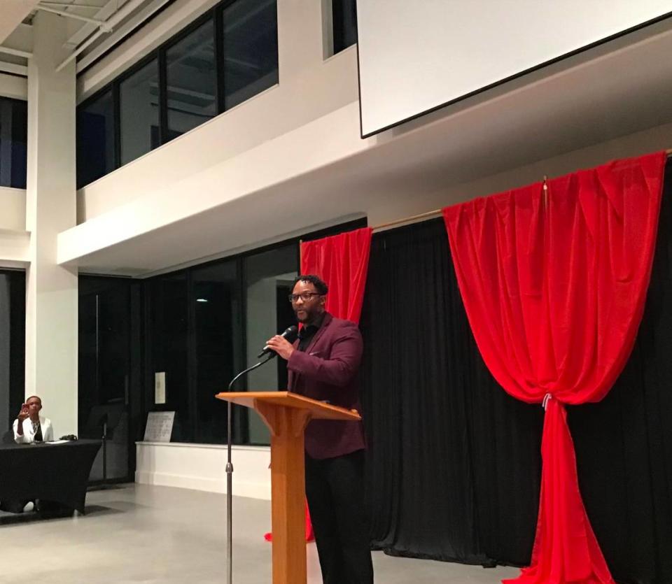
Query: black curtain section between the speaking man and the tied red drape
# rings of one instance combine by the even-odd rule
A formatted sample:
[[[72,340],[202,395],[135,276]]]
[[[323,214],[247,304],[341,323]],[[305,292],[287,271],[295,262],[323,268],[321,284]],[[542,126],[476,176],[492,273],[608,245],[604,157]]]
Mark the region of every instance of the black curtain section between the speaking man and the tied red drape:
[[[542,409],[508,396],[486,369],[442,220],[374,236],[361,325],[374,547],[526,562]]]

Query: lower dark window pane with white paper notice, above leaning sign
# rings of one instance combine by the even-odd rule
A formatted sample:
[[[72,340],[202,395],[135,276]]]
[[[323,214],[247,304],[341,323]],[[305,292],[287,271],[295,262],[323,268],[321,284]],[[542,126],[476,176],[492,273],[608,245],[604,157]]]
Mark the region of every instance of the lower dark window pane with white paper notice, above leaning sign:
[[[188,301],[184,272],[160,276],[148,285],[151,353],[148,363],[148,411],[174,411],[172,441],[193,440],[189,419]],[[165,373],[166,403],[155,404],[155,374]]]

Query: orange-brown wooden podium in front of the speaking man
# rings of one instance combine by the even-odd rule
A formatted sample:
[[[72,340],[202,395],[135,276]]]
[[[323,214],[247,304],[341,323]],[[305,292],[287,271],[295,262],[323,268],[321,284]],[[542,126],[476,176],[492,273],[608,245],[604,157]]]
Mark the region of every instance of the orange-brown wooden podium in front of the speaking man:
[[[271,433],[273,584],[305,584],[303,432],[312,419],[357,421],[360,415],[291,392],[223,392],[216,397],[253,408]]]

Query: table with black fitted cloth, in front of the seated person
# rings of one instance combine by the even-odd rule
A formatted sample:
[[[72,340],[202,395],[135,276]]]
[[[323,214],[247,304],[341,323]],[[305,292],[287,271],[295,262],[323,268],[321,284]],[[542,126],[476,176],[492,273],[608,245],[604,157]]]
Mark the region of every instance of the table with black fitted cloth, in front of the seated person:
[[[84,513],[86,485],[99,440],[0,444],[0,501],[57,501]]]

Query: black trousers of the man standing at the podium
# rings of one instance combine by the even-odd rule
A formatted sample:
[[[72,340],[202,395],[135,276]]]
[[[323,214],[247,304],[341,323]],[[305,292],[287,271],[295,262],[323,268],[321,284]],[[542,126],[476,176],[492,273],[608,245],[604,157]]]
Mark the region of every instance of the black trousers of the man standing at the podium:
[[[364,508],[364,450],[306,455],[306,497],[324,584],[373,584]]]

